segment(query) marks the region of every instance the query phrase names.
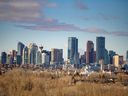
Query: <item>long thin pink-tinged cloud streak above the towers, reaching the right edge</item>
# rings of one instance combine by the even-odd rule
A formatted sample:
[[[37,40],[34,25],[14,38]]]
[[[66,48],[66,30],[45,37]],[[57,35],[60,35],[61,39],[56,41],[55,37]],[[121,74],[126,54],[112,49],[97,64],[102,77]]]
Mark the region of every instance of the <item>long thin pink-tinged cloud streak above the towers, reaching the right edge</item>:
[[[91,34],[102,34],[102,35],[113,35],[113,36],[128,36],[128,32],[123,32],[123,31],[109,32],[103,28],[98,28],[98,27],[89,27],[82,29],[73,24],[60,23],[57,20],[53,20],[52,23],[50,22],[45,21],[44,24],[33,25],[33,26],[29,26],[29,25],[18,25],[18,26],[23,27],[25,29],[49,31],[49,32],[72,31],[72,32],[86,32]]]

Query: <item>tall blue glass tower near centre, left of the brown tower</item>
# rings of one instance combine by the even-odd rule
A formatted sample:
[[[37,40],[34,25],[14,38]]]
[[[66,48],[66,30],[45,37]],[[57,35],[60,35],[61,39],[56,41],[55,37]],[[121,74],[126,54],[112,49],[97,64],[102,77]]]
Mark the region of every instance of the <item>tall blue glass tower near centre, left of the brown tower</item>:
[[[68,38],[68,60],[70,64],[75,63],[75,58],[78,57],[78,39],[76,37]]]

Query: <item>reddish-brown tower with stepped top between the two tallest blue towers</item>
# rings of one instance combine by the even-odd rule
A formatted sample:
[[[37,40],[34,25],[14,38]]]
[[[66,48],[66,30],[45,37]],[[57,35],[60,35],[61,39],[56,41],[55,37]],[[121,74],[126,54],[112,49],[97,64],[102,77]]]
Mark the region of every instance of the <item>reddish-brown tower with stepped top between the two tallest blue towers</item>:
[[[92,41],[87,42],[86,63],[94,63],[94,44]]]

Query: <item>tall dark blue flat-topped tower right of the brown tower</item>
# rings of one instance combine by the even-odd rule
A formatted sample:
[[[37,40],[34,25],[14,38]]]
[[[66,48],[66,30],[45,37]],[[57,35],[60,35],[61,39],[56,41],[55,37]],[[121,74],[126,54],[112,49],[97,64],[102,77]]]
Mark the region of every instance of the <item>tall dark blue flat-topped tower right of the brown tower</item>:
[[[96,38],[96,62],[105,59],[105,37]]]

